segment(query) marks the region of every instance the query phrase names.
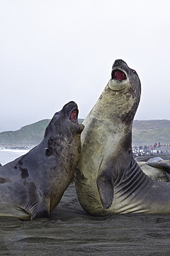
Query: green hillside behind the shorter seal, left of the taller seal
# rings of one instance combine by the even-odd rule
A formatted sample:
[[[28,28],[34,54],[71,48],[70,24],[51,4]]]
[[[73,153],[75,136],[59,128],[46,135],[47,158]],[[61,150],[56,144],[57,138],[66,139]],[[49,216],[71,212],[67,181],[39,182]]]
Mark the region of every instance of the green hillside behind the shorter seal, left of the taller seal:
[[[45,119],[26,125],[17,131],[3,131],[0,133],[0,143],[39,144],[49,122],[49,119]],[[83,119],[78,119],[78,122],[83,122]]]

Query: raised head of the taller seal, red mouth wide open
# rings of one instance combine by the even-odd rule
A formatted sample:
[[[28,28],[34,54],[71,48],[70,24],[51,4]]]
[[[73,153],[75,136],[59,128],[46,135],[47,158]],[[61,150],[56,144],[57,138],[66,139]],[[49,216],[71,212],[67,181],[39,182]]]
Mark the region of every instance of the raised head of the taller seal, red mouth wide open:
[[[141,93],[140,79],[136,71],[129,68],[123,60],[116,60],[112,66],[111,79],[107,86],[114,95],[116,113],[123,113],[126,120],[128,113],[129,118],[133,120]],[[118,109],[120,106],[122,108]]]

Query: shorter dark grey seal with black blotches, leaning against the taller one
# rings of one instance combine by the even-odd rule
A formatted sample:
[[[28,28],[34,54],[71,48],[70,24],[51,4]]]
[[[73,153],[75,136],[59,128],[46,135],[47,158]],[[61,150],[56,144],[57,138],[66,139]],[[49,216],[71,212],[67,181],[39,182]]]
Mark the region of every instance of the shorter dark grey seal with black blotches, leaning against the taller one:
[[[81,155],[75,102],[54,114],[42,142],[0,167],[0,217],[47,218],[70,184]]]

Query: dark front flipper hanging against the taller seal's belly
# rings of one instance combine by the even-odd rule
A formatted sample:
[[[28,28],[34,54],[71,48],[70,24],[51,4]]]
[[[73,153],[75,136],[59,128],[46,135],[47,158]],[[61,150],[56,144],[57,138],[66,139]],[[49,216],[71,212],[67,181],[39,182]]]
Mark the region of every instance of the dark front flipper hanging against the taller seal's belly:
[[[103,207],[107,209],[111,206],[114,199],[114,187],[111,182],[111,178],[105,174],[101,174],[98,176],[97,186]]]

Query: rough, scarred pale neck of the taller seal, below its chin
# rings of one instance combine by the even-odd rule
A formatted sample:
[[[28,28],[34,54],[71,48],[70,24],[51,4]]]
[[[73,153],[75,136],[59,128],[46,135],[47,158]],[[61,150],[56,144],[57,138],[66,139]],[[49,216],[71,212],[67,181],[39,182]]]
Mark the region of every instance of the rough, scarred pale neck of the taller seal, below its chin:
[[[115,127],[121,127],[123,124],[129,125],[129,129],[131,129],[131,123],[138,108],[138,100],[136,98],[125,90],[111,91],[107,84],[88,116],[95,116],[98,120],[105,120],[108,125]]]

